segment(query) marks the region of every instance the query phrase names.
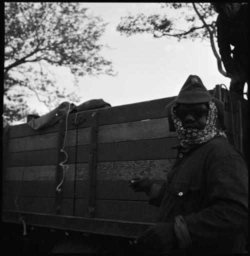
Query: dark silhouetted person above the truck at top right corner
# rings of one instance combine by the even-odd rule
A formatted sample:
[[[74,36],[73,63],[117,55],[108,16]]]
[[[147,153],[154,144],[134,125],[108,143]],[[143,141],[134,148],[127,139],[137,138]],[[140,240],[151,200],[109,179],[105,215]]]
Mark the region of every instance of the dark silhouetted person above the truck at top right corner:
[[[217,43],[225,70],[231,75],[229,89],[243,96],[244,84],[248,83],[248,4],[240,2],[211,4],[218,12]],[[234,46],[233,50],[230,45]]]

